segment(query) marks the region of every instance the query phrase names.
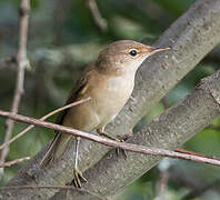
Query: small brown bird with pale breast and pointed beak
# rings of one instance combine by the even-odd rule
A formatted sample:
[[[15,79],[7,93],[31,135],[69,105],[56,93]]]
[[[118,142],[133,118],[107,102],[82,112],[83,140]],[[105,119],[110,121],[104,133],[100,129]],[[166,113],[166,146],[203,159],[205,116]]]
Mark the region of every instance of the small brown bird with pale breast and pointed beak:
[[[69,94],[67,104],[86,98],[91,100],[62,111],[57,123],[81,131],[104,134],[104,127],[112,121],[130,98],[134,86],[134,76],[143,60],[158,51],[169,48],[152,48],[132,40],[121,40],[109,44],[102,50],[96,62],[86,71]],[[71,139],[70,134],[58,132],[51,141],[40,166],[56,163],[66,151]],[[74,182],[81,187],[86,180],[78,169],[77,138],[74,158]]]

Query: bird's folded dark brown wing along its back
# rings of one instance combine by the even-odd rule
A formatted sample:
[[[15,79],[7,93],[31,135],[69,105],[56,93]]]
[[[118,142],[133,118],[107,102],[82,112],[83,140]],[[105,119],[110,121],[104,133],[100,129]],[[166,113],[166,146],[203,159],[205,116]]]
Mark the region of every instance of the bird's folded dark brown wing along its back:
[[[92,66],[93,64],[88,66],[84,69],[83,74],[76,82],[76,84],[74,84],[73,89],[71,90],[64,106],[70,104],[78,99],[79,93],[83,90],[83,88],[87,86],[88,80],[90,79]],[[59,113],[59,116],[57,118],[57,121],[56,121],[57,124],[62,124],[62,121],[63,121],[64,117],[67,116],[68,111],[69,111],[69,109],[66,109],[66,110],[63,110]]]

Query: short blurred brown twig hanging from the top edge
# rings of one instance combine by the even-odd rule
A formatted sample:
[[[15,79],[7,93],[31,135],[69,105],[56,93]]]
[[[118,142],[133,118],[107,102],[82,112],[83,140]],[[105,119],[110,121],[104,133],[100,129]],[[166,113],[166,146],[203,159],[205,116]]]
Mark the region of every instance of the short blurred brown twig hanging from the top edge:
[[[96,0],[87,0],[88,8],[91,12],[96,26],[103,32],[108,30],[107,20],[101,17]]]

